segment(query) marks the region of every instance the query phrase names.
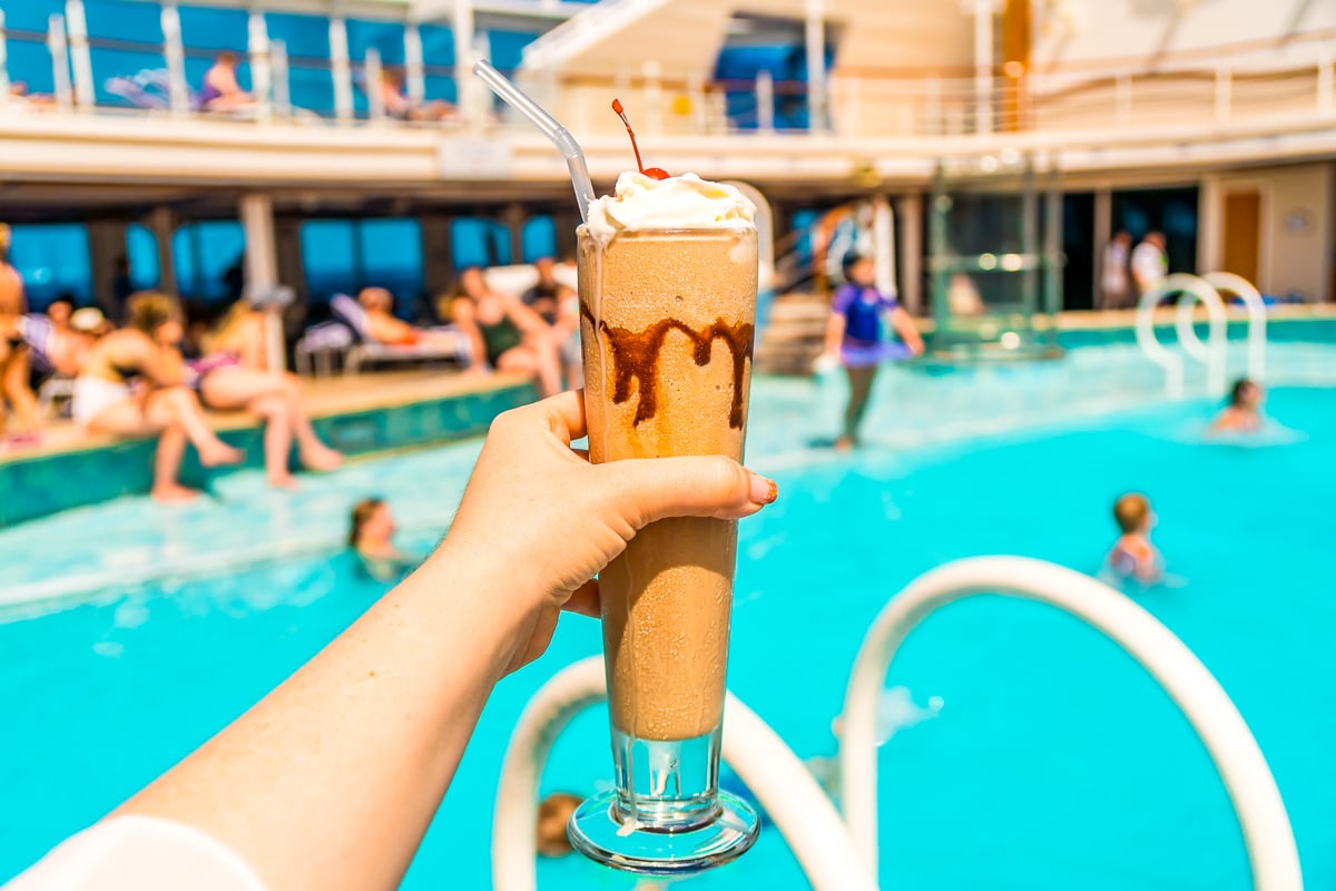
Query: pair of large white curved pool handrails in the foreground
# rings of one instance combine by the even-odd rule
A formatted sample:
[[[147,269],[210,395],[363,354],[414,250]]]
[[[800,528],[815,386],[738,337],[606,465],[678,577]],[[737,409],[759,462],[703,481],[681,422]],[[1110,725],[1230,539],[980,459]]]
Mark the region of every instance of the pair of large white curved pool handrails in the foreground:
[[[1233,701],[1188,647],[1126,596],[1082,573],[1026,557],[971,557],[910,582],[863,639],[844,696],[840,799],[826,796],[798,756],[732,693],[723,759],[755,792],[816,891],[876,890],[876,704],[900,644],[933,612],[975,594],[1057,606],[1104,632],[1169,693],[1225,784],[1257,891],[1301,891],[1299,851],[1280,789]],[[529,701],[501,767],[492,840],[496,891],[534,891],[537,789],[552,743],[605,697],[603,659],[558,672]]]

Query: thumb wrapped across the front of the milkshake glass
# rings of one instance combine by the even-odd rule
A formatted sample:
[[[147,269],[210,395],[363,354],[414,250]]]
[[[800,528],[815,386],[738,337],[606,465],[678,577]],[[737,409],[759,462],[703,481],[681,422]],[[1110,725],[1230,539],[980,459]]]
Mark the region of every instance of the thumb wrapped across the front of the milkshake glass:
[[[748,517],[779,497],[772,480],[723,456],[628,458],[597,465],[637,529],[665,517]]]

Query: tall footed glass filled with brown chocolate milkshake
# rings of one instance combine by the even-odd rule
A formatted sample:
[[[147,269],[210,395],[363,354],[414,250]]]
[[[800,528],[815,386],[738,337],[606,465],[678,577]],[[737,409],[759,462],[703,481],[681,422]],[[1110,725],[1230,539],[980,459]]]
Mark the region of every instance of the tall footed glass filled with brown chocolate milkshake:
[[[580,228],[589,458],[743,457],[756,321],[756,231]],[[570,842],[632,872],[680,875],[756,840],[719,791],[736,521],[660,520],[599,576],[616,789]]]

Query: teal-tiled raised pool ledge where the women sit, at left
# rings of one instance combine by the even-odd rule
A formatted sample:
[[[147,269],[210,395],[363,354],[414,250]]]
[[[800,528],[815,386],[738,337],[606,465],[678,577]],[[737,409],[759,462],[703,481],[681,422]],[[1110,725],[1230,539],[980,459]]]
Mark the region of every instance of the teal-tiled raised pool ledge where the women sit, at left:
[[[484,433],[501,411],[536,398],[518,375],[398,371],[306,379],[306,407],[321,437],[345,454],[429,446]],[[261,462],[261,418],[208,413],[228,443],[246,450],[240,468]],[[35,443],[0,445],[0,528],[67,508],[147,493],[154,439],[90,434],[49,423]],[[183,480],[207,486],[227,469],[202,469],[191,450]]]

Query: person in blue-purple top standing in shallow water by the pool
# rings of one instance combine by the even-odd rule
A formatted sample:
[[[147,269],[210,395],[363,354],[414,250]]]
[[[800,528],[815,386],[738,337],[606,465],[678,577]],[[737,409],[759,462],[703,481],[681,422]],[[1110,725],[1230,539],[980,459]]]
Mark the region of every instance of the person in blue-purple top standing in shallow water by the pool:
[[[858,254],[846,256],[844,279],[831,301],[824,353],[827,362],[840,362],[848,374],[844,431],[835,441],[840,452],[852,448],[858,439],[878,366],[923,355],[923,338],[914,327],[914,319],[894,297],[876,290],[876,267],[871,258]],[[899,341],[882,339],[883,315],[890,317]]]

